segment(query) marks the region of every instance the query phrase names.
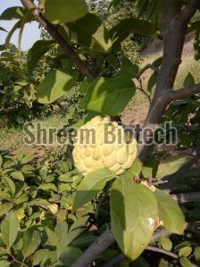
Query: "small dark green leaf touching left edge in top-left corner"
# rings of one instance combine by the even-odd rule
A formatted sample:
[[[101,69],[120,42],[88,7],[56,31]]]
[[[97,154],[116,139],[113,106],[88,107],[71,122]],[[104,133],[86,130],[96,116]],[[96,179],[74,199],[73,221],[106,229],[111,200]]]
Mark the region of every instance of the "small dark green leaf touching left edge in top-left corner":
[[[24,14],[24,8],[21,6],[12,6],[4,10],[0,15],[0,21],[12,21],[21,19]]]

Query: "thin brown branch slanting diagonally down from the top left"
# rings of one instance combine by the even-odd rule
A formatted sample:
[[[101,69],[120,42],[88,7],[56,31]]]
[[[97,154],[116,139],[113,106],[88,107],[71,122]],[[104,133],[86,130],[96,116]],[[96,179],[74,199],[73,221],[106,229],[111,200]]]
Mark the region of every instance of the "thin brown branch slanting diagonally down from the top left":
[[[40,13],[36,4],[33,4],[31,0],[21,0],[21,3],[33,14],[36,20],[47,30],[52,38],[63,48],[63,51],[67,56],[71,58],[71,61],[79,68],[79,71],[87,76],[88,79],[96,79],[96,76],[87,68],[87,65],[81,61],[79,56],[73,51],[72,47],[65,42],[63,37],[58,33],[57,29]]]

